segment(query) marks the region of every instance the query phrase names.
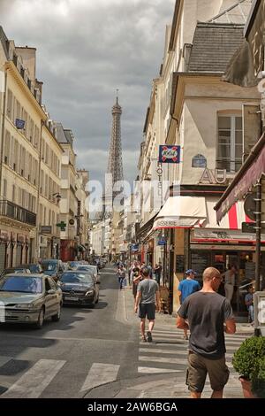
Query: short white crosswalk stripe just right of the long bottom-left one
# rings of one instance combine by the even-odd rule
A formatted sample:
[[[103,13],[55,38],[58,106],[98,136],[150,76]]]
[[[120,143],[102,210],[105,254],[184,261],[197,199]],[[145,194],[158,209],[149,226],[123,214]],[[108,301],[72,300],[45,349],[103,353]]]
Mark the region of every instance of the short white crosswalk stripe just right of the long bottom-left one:
[[[115,364],[94,363],[87,374],[87,379],[81,391],[94,389],[102,384],[116,381],[119,367]]]

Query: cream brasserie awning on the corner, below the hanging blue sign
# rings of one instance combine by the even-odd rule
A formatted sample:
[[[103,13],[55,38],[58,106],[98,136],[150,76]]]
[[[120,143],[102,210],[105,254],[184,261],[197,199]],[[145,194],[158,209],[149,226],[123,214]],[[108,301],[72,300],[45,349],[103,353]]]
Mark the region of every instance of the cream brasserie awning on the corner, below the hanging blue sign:
[[[170,196],[157,214],[153,230],[193,228],[207,218],[203,196]]]

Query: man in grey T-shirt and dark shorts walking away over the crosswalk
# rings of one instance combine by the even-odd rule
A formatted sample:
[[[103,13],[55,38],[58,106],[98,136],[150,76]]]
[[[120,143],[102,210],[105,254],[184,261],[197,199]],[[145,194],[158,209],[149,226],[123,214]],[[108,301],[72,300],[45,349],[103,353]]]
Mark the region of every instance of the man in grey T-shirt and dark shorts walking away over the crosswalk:
[[[150,278],[147,267],[141,270],[143,281],[140,281],[137,288],[134,312],[137,313],[139,306],[140,333],[143,342],[152,343],[152,331],[155,326],[155,304],[160,312],[159,287],[156,281]],[[145,335],[146,318],[149,320],[148,340]]]

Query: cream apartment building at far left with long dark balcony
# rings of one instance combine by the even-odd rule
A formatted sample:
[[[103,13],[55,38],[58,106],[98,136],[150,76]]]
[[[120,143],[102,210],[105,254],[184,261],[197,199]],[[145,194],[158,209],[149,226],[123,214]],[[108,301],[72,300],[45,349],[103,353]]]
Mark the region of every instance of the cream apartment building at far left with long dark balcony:
[[[0,269],[36,258],[42,83],[35,49],[16,48],[0,27]]]

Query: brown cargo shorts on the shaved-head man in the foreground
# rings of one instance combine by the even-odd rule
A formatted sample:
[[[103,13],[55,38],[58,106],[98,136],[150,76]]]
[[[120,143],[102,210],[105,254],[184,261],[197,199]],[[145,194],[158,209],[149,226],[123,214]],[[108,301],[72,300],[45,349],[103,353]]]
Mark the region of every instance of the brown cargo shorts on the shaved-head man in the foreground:
[[[223,390],[229,379],[229,369],[225,364],[225,357],[208,359],[189,351],[186,384],[190,391],[201,393],[204,389],[208,374],[211,389]]]

